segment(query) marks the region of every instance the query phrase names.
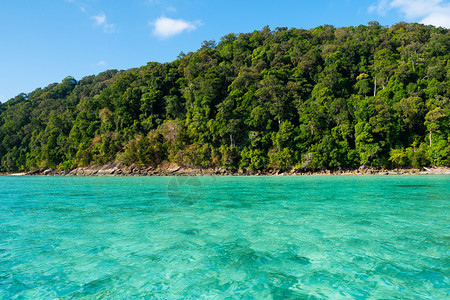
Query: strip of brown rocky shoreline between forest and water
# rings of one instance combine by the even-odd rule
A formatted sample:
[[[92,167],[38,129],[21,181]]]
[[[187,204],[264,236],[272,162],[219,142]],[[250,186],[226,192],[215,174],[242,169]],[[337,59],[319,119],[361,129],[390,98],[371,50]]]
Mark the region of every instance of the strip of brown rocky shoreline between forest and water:
[[[450,168],[433,167],[423,169],[392,169],[377,170],[360,167],[356,170],[323,170],[323,171],[301,171],[301,170],[228,170],[225,168],[198,168],[182,167],[176,164],[167,164],[159,167],[151,166],[124,166],[112,163],[104,166],[78,167],[71,170],[38,169],[26,172],[6,172],[0,175],[13,176],[299,176],[299,175],[413,175],[413,174],[449,174]]]

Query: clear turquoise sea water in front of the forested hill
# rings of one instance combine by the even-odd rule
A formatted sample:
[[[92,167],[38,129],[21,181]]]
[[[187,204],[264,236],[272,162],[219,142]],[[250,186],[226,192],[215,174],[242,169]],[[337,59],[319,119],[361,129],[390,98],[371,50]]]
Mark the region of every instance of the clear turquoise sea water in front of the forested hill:
[[[0,177],[0,299],[449,299],[449,176]]]

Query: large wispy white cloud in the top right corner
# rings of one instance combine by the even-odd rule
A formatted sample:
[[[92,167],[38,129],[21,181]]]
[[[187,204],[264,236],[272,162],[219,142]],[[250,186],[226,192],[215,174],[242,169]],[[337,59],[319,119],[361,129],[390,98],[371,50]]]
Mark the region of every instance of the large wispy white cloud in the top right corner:
[[[450,3],[443,0],[380,0],[369,7],[369,12],[385,15],[390,10],[400,11],[406,19],[419,23],[450,28]]]

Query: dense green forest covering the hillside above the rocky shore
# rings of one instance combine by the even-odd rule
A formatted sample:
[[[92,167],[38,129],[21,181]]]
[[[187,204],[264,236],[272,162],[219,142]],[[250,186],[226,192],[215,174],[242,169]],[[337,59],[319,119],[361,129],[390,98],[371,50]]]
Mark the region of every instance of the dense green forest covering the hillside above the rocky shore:
[[[449,98],[448,29],[266,26],[1,104],[0,170],[449,166]]]

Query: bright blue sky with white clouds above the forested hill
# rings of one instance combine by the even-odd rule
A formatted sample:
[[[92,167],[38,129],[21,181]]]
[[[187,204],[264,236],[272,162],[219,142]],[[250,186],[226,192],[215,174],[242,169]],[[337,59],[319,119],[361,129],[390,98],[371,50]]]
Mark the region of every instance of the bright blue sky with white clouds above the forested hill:
[[[232,32],[369,21],[450,28],[450,0],[2,0],[0,102],[67,76],[170,62]]]

